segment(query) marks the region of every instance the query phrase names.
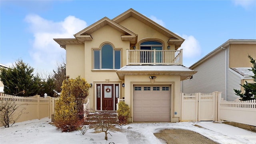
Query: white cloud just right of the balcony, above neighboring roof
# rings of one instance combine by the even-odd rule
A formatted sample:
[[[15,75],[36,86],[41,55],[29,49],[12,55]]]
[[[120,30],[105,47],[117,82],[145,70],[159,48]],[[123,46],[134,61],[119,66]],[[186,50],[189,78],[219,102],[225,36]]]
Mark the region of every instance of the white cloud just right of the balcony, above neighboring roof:
[[[184,58],[195,58],[200,56],[201,48],[198,40],[194,38],[194,36],[187,36],[183,34],[181,36],[185,39],[180,49],[183,49],[183,57]]]

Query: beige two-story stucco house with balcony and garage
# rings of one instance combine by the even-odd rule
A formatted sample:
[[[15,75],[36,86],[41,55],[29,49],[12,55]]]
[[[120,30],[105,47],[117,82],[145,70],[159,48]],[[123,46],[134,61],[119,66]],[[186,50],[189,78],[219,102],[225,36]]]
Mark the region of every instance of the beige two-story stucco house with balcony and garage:
[[[180,120],[180,80],[196,73],[182,65],[184,39],[129,9],[74,34],[54,39],[66,50],[66,74],[92,84],[95,110],[130,106],[130,122]]]

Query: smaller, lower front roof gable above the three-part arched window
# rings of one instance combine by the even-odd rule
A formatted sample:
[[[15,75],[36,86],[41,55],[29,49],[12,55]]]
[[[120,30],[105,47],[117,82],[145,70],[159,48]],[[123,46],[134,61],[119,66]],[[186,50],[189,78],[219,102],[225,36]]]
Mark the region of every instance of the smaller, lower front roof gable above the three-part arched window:
[[[80,32],[74,34],[74,37],[77,40],[82,41],[82,42],[84,42],[86,40],[92,40],[92,36],[90,34],[95,32],[96,30],[99,30],[100,28],[103,28],[106,25],[108,25],[108,26],[114,28],[115,30],[121,32],[123,34],[121,36],[122,40],[130,41],[130,40],[133,40],[137,37],[135,33],[131,32],[130,30],[124,28],[120,24],[117,24],[116,22],[110,20],[107,17],[102,18],[101,20],[99,20],[98,22],[95,22],[94,24],[88,26],[84,30],[81,30]]]

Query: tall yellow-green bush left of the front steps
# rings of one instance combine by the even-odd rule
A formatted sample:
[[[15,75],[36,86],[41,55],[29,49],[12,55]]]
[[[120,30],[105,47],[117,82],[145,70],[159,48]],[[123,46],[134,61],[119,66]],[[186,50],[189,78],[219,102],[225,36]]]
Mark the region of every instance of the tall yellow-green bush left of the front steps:
[[[66,78],[62,83],[60,99],[56,102],[54,124],[62,132],[72,132],[81,128],[84,122],[84,99],[90,85],[84,78]]]

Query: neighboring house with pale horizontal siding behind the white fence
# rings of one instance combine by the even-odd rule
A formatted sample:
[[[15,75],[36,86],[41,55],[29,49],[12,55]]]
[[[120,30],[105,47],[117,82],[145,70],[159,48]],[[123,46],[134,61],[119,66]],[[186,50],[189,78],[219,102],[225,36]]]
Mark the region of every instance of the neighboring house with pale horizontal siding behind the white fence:
[[[228,40],[189,67],[197,73],[181,82],[181,92],[218,91],[225,100],[236,100],[234,89],[244,92],[240,84],[254,82],[248,55],[256,59],[256,40]]]

